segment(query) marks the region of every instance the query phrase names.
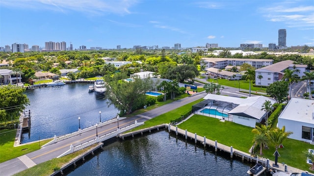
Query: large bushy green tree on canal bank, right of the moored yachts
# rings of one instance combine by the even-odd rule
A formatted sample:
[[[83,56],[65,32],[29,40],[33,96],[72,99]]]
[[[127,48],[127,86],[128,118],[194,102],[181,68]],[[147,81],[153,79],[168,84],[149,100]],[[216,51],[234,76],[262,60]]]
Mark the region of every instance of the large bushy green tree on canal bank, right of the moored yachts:
[[[140,108],[146,101],[145,92],[151,86],[150,78],[134,78],[134,81],[126,82],[120,80],[121,74],[106,75],[105,97],[110,100],[122,114],[130,114],[133,110]]]

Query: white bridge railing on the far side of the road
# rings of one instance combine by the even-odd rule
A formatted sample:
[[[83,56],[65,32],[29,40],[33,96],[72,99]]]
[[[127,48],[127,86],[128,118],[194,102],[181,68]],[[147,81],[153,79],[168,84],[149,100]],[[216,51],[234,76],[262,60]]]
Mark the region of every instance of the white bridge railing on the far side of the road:
[[[125,118],[126,117],[120,117],[119,121],[121,121],[121,120],[123,120]],[[118,121],[117,118],[113,118],[111,120],[108,120],[108,121],[105,121],[103,123],[97,124],[97,126],[98,127],[102,127],[102,126],[105,126],[105,125],[108,125],[108,124],[112,124],[112,123],[117,122],[117,121]],[[69,134],[65,134],[65,135],[62,135],[62,136],[58,136],[58,137],[56,135],[54,135],[53,140],[50,141],[49,143],[43,145],[42,147],[48,146],[48,145],[50,145],[52,143],[57,143],[57,142],[62,141],[64,139],[68,139],[70,137],[76,136],[78,134],[81,134],[81,133],[84,133],[86,131],[90,131],[90,130],[93,130],[93,129],[96,129],[96,125],[89,126],[87,128],[84,128],[84,129],[78,129],[78,131],[75,131],[75,132],[72,132],[72,133],[69,133]]]

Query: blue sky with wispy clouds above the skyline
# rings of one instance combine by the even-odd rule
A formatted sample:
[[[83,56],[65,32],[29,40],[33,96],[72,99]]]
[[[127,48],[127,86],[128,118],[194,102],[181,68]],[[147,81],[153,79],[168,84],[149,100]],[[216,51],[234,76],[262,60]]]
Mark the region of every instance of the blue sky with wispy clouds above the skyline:
[[[314,46],[314,0],[1,0],[0,47]]]

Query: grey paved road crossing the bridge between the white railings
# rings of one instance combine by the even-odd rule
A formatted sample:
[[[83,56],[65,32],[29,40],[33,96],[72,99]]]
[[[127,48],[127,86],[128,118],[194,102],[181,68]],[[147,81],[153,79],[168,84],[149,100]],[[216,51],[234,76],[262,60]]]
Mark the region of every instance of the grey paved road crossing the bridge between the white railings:
[[[122,128],[124,126],[129,126],[135,122],[145,122],[148,119],[157,117],[163,113],[169,112],[173,109],[183,106],[184,104],[190,103],[192,101],[196,101],[205,96],[205,93],[195,94],[193,96],[184,98],[179,101],[175,101],[164,106],[160,106],[148,112],[142,113],[140,115],[136,115],[131,118],[126,118],[124,120],[119,121],[119,127]],[[98,128],[98,135],[102,136],[112,131],[115,131],[117,128],[117,123],[112,123],[106,126],[102,126]],[[59,141],[57,143],[45,146],[38,151],[33,151],[23,157],[18,157],[11,159],[9,161],[0,163],[0,176],[11,176],[21,171],[26,170],[27,168],[34,166],[36,164],[48,161],[50,159],[56,158],[60,154],[68,151],[70,149],[70,145],[76,146],[78,144],[87,142],[89,140],[95,139],[96,137],[96,129],[87,131],[80,135],[65,139],[63,141]]]

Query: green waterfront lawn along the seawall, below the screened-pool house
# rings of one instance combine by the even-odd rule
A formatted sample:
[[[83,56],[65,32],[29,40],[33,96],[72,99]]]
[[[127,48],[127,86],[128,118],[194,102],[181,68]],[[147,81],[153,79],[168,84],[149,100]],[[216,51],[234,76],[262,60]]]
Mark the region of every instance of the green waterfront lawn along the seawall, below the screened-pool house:
[[[234,149],[247,153],[249,153],[249,149],[253,145],[254,134],[251,132],[253,128],[233,122],[219,122],[219,119],[216,118],[193,115],[178,127],[197,133],[200,136],[206,136],[210,140],[217,140],[218,143],[233,146]],[[281,155],[278,158],[278,163],[286,163],[288,166],[309,171],[310,165],[306,163],[306,154],[304,152],[308,151],[308,149],[314,149],[314,145],[293,139],[285,140],[283,145],[285,148],[278,150]],[[275,147],[271,144],[268,147],[269,149],[263,149],[262,156],[260,156],[259,150],[255,154],[274,161],[273,153]]]

